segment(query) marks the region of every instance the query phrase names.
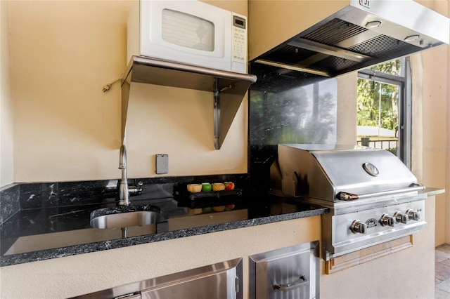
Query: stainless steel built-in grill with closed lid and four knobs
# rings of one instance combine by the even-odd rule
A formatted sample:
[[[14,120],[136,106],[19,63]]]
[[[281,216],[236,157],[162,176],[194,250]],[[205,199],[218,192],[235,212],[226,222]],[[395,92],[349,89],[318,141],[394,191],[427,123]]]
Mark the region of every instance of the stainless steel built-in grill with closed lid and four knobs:
[[[329,260],[426,227],[425,189],[391,152],[346,145],[278,145],[274,185],[330,208],[322,216]],[[278,183],[277,183],[278,182]]]

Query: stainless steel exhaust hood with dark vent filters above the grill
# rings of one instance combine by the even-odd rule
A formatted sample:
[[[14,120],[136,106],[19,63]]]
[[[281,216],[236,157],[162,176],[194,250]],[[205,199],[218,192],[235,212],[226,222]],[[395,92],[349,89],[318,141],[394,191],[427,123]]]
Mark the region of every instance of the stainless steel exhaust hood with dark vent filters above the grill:
[[[311,4],[314,1],[270,1],[274,6],[297,9],[297,15],[291,19],[274,15],[269,18],[273,12],[267,8],[264,8],[266,15],[262,15],[257,8],[267,5],[262,2],[266,1],[249,2],[250,13],[253,7],[259,15],[260,21],[255,21],[259,23],[253,27],[256,32],[264,27],[269,30],[274,22],[287,22],[285,26],[298,28],[300,32],[253,59],[264,65],[335,77],[449,44],[449,18],[412,0],[344,1],[345,6],[332,15],[323,15],[326,1],[315,1],[315,4]],[[302,9],[302,6],[309,9]],[[311,11],[311,6],[316,9]],[[251,31],[251,17],[250,34],[255,32]],[[317,20],[313,26],[307,25],[311,18]],[[265,24],[262,24],[263,19]],[[279,30],[279,33],[283,32]]]

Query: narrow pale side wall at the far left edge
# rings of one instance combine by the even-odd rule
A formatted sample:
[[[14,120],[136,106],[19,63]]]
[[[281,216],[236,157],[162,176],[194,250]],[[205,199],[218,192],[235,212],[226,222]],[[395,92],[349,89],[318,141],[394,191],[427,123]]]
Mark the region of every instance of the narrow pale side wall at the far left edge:
[[[14,182],[8,1],[0,1],[0,187]]]

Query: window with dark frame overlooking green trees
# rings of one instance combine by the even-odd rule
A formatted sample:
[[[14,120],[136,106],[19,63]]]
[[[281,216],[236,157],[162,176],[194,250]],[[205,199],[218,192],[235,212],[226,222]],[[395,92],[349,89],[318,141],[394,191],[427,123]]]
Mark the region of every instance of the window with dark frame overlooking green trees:
[[[400,58],[358,72],[358,144],[390,150],[411,168],[411,67]]]

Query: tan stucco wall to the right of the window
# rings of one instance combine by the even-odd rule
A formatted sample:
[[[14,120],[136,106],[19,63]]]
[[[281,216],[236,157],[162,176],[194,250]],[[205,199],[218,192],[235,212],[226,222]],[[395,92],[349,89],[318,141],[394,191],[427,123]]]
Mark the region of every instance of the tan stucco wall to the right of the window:
[[[450,15],[449,1],[418,1]],[[450,190],[450,46],[411,57],[413,172],[428,187]],[[450,192],[436,197],[436,246],[450,243]]]

